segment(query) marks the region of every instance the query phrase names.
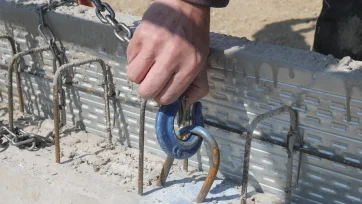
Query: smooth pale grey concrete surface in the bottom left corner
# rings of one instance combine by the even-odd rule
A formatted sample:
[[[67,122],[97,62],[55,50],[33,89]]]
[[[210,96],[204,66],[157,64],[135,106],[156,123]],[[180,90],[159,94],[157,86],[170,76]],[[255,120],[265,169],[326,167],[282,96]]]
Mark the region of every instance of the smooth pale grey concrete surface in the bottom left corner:
[[[14,147],[0,158],[0,197],[5,203],[132,204],[141,200],[110,178],[77,173]]]

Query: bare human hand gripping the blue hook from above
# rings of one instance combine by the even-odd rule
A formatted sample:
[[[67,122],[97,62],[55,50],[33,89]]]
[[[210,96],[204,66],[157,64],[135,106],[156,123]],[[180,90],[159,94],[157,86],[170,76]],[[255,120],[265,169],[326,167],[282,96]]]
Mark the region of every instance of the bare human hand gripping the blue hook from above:
[[[188,105],[205,96],[210,8],[184,1],[155,0],[127,49],[130,81],[138,94],[167,105],[182,94]]]

